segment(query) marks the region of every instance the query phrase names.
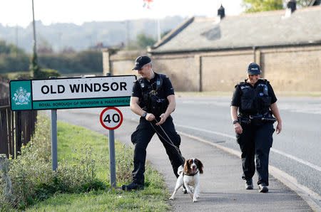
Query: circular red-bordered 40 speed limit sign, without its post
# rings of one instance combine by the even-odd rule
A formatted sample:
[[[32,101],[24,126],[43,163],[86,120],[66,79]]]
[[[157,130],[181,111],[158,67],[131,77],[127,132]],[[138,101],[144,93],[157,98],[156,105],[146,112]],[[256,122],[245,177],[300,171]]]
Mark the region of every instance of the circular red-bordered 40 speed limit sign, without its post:
[[[106,129],[117,129],[123,122],[123,115],[116,107],[107,107],[101,112],[99,120]]]

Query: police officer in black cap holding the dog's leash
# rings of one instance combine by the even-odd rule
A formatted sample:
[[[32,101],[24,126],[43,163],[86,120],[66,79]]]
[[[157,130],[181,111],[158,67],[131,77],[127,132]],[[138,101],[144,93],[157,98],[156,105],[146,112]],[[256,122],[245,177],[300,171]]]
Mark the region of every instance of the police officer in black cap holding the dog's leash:
[[[144,188],[146,148],[155,133],[165,147],[176,177],[178,166],[184,163],[179,149],[180,136],[170,116],[175,110],[175,95],[170,80],[165,75],[153,72],[151,58],[146,55],[136,58],[133,70],[138,70],[141,78],[133,85],[130,106],[141,118],[131,135],[131,142],[135,144],[133,181],[121,186],[127,191]]]

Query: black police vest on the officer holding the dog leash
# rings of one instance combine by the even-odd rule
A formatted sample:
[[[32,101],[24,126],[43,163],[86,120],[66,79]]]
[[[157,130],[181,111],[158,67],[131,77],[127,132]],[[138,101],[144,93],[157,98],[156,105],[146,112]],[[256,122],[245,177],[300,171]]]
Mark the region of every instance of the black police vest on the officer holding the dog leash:
[[[146,79],[139,78],[138,83],[141,86],[142,98],[138,105],[146,112],[159,116],[164,113],[168,107],[168,99],[165,97],[163,89],[163,80],[166,75],[157,74],[155,83],[148,83]]]

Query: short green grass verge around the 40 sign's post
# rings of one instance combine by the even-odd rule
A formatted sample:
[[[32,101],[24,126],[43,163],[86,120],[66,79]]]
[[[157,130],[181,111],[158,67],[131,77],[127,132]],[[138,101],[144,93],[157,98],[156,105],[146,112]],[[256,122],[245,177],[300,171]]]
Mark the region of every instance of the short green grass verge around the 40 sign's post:
[[[26,211],[171,211],[168,191],[161,175],[151,167],[146,167],[146,187],[143,191],[121,191],[109,187],[108,139],[102,134],[82,127],[58,122],[58,161],[75,163],[74,149],[91,145],[93,152],[103,162],[98,165],[98,179],[105,181],[108,189],[82,194],[56,194],[36,203]],[[131,154],[133,149],[116,142],[116,154]],[[132,157],[124,157],[127,165]],[[117,159],[116,159],[117,162]],[[132,165],[131,165],[132,166]],[[117,171],[116,171],[117,173]],[[128,181],[117,181],[118,186]]]

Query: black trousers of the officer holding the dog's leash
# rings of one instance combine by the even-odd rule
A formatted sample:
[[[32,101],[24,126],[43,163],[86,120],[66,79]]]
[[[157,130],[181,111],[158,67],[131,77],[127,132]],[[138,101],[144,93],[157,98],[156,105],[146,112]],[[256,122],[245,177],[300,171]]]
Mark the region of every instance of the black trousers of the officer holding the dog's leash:
[[[153,126],[152,126],[153,124]],[[168,135],[170,140],[168,139]],[[145,172],[145,161],[146,161],[146,148],[148,143],[151,142],[151,138],[156,133],[161,139],[163,146],[165,147],[166,153],[170,159],[170,164],[173,166],[173,171],[176,177],[178,177],[178,167],[184,164],[184,159],[180,153],[180,136],[175,131],[173,124],[173,118],[169,116],[161,127],[156,125],[156,121],[148,122],[143,117],[139,121],[136,131],[131,135],[131,142],[135,144],[134,149],[134,169],[133,169],[133,183],[144,184],[144,172]],[[156,132],[157,131],[157,132]],[[173,142],[173,145],[170,144]]]

